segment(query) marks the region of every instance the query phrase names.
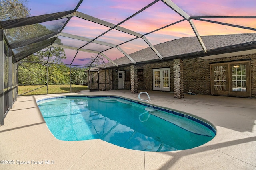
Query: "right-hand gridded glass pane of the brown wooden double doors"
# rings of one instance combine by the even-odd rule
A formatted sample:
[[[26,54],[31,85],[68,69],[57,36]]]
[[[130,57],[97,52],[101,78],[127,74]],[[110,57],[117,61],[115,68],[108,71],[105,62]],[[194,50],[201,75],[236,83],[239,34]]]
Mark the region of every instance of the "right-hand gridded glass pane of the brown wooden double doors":
[[[246,65],[232,65],[232,91],[246,92]]]

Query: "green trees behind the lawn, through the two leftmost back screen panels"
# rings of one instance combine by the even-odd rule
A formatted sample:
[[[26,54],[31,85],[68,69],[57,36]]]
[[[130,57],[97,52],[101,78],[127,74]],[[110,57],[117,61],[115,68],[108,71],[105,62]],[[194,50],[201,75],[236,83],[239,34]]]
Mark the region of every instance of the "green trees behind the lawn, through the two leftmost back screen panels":
[[[26,68],[19,67],[19,84],[45,84],[47,71],[46,64],[42,63],[47,61],[48,63],[53,63],[48,64],[48,83],[69,84],[70,68],[64,65],[62,59],[66,59],[66,54],[62,48],[52,48],[51,51],[50,49],[44,49],[22,59],[22,61],[27,62],[22,62],[22,65],[26,66]]]

